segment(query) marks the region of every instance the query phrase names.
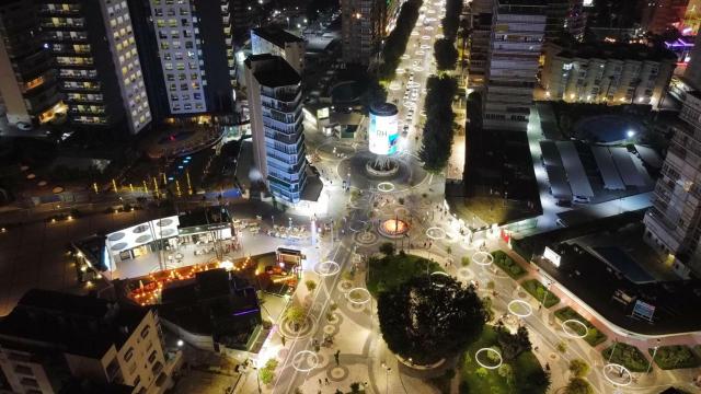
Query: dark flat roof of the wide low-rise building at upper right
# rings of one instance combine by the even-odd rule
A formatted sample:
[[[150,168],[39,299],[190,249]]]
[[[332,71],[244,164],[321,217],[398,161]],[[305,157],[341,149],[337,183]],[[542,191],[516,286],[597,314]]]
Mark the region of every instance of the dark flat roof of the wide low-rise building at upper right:
[[[643,44],[590,42],[579,43],[572,37],[559,37],[553,44],[562,47],[558,55],[562,57],[578,57],[584,59],[618,59],[618,60],[677,60],[677,55],[659,46],[650,47]]]

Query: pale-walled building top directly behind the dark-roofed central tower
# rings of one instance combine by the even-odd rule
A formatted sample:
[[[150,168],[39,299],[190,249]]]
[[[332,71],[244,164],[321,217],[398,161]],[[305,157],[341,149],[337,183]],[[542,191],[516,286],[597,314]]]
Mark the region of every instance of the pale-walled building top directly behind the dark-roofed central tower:
[[[304,40],[276,27],[251,30],[251,55],[271,54],[287,61],[300,76],[304,72]]]

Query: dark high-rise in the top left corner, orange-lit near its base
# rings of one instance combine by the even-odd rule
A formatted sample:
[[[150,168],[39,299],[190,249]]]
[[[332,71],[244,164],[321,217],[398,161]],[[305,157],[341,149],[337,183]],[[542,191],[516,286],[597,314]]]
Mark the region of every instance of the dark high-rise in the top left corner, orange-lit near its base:
[[[0,103],[10,125],[37,126],[66,113],[36,8],[0,2]]]

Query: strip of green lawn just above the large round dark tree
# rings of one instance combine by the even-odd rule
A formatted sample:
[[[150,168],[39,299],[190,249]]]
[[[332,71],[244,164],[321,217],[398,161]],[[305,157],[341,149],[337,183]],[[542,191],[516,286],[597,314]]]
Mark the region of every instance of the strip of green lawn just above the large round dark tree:
[[[416,275],[443,271],[438,263],[414,255],[395,254],[370,259],[367,287],[375,297],[381,291],[393,289]]]

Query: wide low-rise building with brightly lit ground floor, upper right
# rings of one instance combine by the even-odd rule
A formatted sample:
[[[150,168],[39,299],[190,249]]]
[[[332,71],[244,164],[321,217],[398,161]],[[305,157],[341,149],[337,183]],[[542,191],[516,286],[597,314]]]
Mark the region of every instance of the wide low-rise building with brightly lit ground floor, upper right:
[[[673,51],[641,44],[559,40],[545,44],[544,54],[545,96],[566,102],[657,107],[677,66]]]

